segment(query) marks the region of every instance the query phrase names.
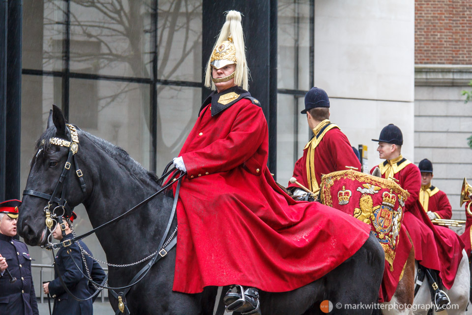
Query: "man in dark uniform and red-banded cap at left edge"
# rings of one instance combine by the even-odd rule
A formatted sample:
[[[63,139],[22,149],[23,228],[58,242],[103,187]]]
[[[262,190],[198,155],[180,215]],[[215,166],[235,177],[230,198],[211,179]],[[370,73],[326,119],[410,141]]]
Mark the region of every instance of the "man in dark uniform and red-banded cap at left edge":
[[[0,203],[0,314],[39,315],[28,247],[13,238],[20,200]],[[6,270],[8,269],[8,270]],[[10,282],[10,277],[16,278]]]

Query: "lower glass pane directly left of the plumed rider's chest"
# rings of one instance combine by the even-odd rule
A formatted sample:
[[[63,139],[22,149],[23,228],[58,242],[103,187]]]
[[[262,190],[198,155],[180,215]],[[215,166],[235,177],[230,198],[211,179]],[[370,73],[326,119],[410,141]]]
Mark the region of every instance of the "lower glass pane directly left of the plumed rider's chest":
[[[202,89],[158,86],[157,173],[177,157],[187,135],[197,121],[202,105]],[[160,175],[160,174],[159,174]]]

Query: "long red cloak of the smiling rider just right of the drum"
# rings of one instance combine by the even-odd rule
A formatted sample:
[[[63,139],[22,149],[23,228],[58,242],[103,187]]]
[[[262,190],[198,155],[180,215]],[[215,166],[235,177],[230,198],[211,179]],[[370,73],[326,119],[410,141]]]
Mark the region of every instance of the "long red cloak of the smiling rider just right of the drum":
[[[383,178],[385,174],[382,175]],[[462,259],[464,244],[454,231],[435,226],[429,220],[418,199],[421,172],[416,165],[408,164],[393,177],[410,193],[405,202],[403,224],[413,241],[414,258],[422,266],[440,271],[442,283],[450,289]]]

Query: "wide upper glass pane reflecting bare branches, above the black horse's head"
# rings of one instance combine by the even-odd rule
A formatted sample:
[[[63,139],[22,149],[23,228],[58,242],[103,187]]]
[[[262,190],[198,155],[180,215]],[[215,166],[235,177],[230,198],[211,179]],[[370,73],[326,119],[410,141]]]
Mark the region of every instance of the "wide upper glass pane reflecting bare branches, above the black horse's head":
[[[150,78],[150,0],[70,4],[72,72]]]

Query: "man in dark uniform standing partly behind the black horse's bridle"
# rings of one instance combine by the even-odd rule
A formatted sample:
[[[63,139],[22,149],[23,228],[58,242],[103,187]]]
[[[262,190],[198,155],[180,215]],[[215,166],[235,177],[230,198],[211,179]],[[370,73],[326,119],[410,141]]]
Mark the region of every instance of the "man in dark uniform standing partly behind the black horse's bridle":
[[[70,223],[77,219],[77,215],[72,213],[70,219],[62,218],[64,223],[65,236],[62,236],[60,226],[56,227],[53,232],[55,239],[64,242],[73,238],[72,230],[70,229]],[[70,220],[70,221],[69,221]],[[82,242],[79,241],[80,246],[91,255],[89,248]],[[53,315],[62,314],[74,314],[74,315],[91,315],[93,314],[92,300],[77,301],[72,296],[68,295],[64,287],[60,283],[59,274],[64,281],[70,292],[80,298],[87,299],[92,293],[95,292],[95,288],[92,284],[89,284],[84,275],[87,275],[94,282],[101,284],[105,279],[105,272],[102,267],[84,253],[87,261],[87,266],[84,265],[82,259],[81,249],[77,243],[74,243],[68,247],[62,247],[56,253],[56,266],[54,267],[55,279],[51,282],[43,284],[45,294],[50,294],[54,298],[54,310]],[[77,266],[82,268],[79,270]]]

